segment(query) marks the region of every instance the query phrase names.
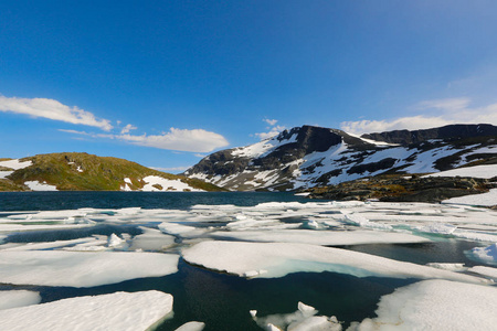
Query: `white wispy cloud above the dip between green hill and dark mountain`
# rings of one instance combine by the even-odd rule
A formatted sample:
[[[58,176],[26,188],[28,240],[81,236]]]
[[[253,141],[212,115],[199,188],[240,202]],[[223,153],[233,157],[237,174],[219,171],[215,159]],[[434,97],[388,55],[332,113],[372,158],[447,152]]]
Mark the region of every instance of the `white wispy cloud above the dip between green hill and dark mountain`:
[[[170,128],[169,132],[154,136],[134,136],[125,135],[102,135],[88,134],[85,131],[61,130],[63,132],[89,136],[93,138],[118,139],[139,146],[155,147],[159,149],[188,151],[188,152],[211,152],[212,150],[229,145],[228,140],[215,132],[203,129],[177,129]]]

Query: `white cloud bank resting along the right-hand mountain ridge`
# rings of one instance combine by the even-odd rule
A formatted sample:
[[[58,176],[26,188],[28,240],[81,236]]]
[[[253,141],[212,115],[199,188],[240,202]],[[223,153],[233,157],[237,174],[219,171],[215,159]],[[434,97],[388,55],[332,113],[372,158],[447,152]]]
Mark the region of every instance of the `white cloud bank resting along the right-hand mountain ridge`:
[[[416,130],[441,127],[451,124],[497,125],[497,104],[470,108],[469,98],[425,100],[416,105],[429,114],[401,117],[392,120],[343,121],[340,128],[351,134],[382,132],[390,130]],[[433,113],[437,113],[435,116]]]

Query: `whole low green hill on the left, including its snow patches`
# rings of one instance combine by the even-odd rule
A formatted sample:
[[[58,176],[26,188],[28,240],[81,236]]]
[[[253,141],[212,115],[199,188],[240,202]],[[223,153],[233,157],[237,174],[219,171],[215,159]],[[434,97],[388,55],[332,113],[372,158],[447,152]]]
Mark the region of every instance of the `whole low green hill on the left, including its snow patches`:
[[[0,159],[0,191],[221,191],[201,180],[160,172],[124,159],[50,153]]]

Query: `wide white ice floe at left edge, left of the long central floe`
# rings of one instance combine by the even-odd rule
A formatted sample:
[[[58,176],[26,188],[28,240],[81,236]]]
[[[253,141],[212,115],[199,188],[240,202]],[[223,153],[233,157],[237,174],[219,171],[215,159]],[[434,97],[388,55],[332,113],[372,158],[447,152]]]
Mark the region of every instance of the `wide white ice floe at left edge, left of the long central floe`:
[[[93,287],[178,271],[178,255],[123,252],[0,252],[0,282]]]

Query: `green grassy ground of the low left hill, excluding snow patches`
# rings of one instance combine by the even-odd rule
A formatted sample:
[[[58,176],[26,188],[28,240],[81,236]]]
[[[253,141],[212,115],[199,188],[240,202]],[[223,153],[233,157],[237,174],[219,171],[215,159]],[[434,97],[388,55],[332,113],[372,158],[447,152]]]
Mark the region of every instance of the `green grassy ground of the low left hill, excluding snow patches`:
[[[0,183],[0,190],[22,188],[27,181],[38,181],[55,185],[62,191],[119,191],[125,185],[125,179],[130,179],[128,186],[139,190],[145,185],[144,178],[158,175],[169,180],[181,180],[190,186],[205,191],[222,189],[203,181],[190,180],[166,172],[146,168],[124,159],[97,157],[87,153],[50,153],[24,158],[21,161],[32,161],[32,166],[14,171],[8,177],[8,183]]]

